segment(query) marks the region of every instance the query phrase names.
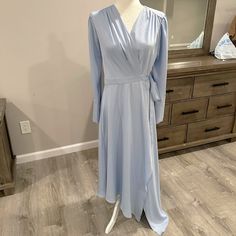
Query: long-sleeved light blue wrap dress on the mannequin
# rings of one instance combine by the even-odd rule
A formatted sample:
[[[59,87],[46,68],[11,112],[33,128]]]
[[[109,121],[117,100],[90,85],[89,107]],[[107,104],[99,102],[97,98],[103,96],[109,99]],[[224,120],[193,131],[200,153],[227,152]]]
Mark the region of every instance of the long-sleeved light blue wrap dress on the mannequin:
[[[168,23],[144,6],[131,32],[114,4],[90,13],[88,40],[93,117],[99,124],[97,195],[140,221],[145,211],[161,234],[169,217],[162,209],[156,124],[163,120]]]

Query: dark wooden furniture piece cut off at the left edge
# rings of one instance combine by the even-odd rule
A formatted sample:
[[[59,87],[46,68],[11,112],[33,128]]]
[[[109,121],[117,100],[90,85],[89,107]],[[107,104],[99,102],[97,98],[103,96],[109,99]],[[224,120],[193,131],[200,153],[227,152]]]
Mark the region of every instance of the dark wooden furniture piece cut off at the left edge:
[[[15,159],[13,158],[5,117],[6,99],[0,98],[0,191],[14,190]]]

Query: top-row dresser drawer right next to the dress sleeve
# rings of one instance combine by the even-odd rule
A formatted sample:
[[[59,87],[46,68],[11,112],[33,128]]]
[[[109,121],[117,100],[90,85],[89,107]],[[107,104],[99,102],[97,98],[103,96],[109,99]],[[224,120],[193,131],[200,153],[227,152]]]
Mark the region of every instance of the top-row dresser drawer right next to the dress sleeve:
[[[190,98],[193,90],[193,78],[169,79],[166,85],[166,101]]]

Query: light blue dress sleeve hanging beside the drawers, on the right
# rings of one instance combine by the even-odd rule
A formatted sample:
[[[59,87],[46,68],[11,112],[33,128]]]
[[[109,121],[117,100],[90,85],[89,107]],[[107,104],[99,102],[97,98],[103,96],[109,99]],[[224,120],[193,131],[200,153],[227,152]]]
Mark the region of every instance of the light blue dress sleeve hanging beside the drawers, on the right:
[[[154,100],[156,124],[163,121],[166,98],[166,80],[168,65],[168,22],[163,16],[160,26],[159,52],[152,68],[152,78],[156,82],[159,99]]]

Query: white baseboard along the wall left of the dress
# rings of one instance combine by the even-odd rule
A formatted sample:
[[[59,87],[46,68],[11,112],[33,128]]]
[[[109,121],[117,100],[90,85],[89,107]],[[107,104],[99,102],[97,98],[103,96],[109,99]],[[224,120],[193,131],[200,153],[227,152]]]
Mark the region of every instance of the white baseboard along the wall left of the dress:
[[[93,141],[84,142],[84,143],[77,143],[73,145],[48,149],[48,150],[39,151],[39,152],[32,152],[32,153],[17,155],[16,163],[20,164],[20,163],[25,163],[25,162],[41,160],[45,158],[72,153],[72,152],[87,150],[87,149],[91,149],[95,147],[98,147],[98,140],[93,140]]]

